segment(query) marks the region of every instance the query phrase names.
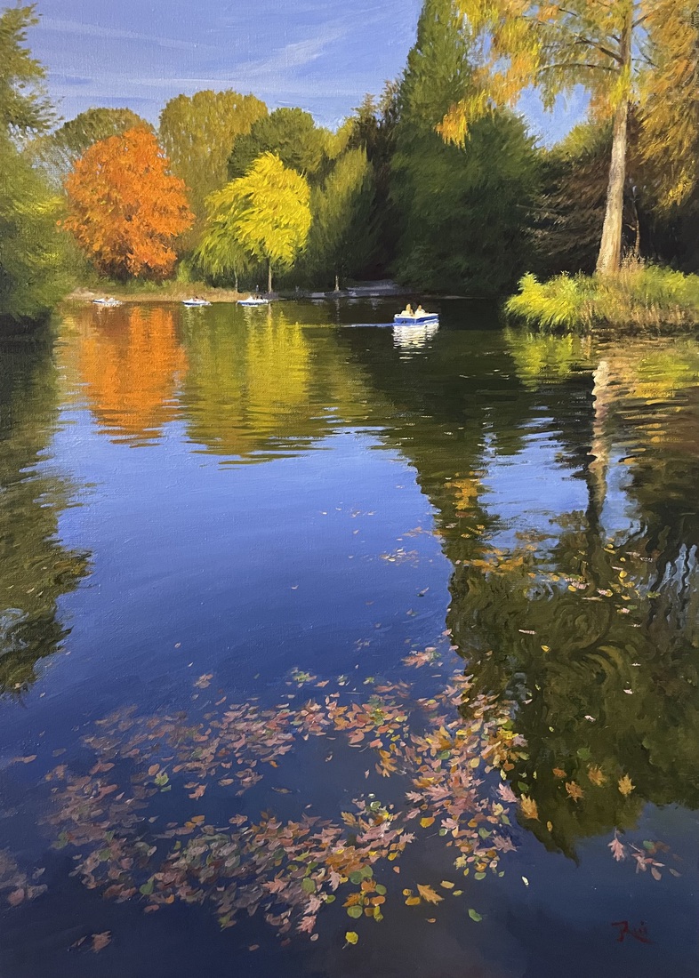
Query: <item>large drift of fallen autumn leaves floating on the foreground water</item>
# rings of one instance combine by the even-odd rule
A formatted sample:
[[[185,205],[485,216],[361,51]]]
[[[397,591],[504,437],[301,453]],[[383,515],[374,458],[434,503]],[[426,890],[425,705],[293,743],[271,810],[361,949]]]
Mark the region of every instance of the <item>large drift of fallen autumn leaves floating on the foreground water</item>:
[[[212,679],[203,675],[195,686],[207,689]],[[302,689],[317,677],[295,673],[292,680]],[[325,689],[328,680],[316,685]],[[338,689],[269,710],[254,702],[222,707],[224,697],[203,722],[120,710],[84,737],[95,759],[89,774],[61,764],[47,778],[55,845],[75,850],[75,874],[88,888],[117,902],[140,899],[145,911],[206,903],[224,928],[240,912],[261,911],[280,934],[313,935],[319,914],[339,897],[352,919],[380,921],[398,889],[388,869],[400,871],[405,850],[427,839],[433,824],[455,850],[455,867],[476,879],[496,875],[502,855],[514,849],[507,791],[493,775],[504,776],[521,741],[506,704],[475,697],[464,721],[457,707],[467,688],[457,674],[437,696],[414,701],[409,684],[384,682],[364,700]],[[385,804],[364,789],[334,820],[303,810],[284,822],[268,810],[253,821],[240,812],[236,798],[264,789],[266,771],[328,734],[335,744],[328,763],[348,763],[352,749],[371,751],[365,779],[385,792],[377,778],[395,778],[408,789],[405,802]],[[215,802],[207,814],[209,788],[229,797],[235,814],[227,824],[217,823]],[[192,814],[153,834],[150,813],[173,790]],[[460,896],[454,885],[440,884]],[[409,906],[445,899],[428,883],[416,889],[417,896],[403,892]]]

